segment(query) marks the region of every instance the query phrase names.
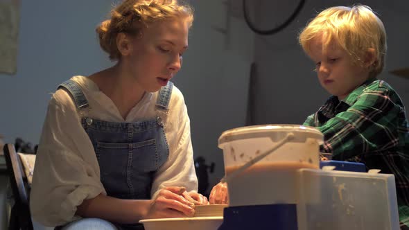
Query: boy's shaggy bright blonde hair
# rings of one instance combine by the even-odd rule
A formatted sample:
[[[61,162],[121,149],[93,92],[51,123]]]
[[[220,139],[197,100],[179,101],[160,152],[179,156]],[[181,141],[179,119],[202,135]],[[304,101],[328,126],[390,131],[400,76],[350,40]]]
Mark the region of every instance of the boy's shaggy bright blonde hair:
[[[374,48],[375,62],[369,76],[375,77],[383,70],[387,48],[385,27],[369,6],[336,6],[320,12],[299,34],[299,43],[308,55],[311,55],[311,40],[321,35],[324,46],[333,40],[338,42],[354,63],[361,65],[368,49]]]

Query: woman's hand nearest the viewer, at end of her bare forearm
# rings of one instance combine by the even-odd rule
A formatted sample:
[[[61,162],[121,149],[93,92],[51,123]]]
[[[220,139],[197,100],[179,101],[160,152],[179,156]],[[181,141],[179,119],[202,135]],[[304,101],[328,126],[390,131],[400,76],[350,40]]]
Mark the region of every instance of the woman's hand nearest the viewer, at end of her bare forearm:
[[[195,204],[184,197],[186,188],[171,186],[163,188],[152,201],[146,214],[153,218],[186,218],[195,215]]]

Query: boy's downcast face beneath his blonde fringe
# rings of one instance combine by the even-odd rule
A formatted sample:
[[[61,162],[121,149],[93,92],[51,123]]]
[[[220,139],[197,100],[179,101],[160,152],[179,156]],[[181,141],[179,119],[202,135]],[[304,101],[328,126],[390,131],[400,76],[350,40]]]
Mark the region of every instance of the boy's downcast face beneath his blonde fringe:
[[[346,98],[369,78],[369,69],[354,64],[349,54],[335,41],[324,45],[323,36],[311,40],[311,59],[315,62],[318,80],[339,100]]]

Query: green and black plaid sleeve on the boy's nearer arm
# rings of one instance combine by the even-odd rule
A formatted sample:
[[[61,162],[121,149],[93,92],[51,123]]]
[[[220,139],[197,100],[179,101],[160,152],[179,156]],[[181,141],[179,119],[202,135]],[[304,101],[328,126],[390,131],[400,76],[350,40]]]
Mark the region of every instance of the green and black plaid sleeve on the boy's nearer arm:
[[[390,92],[383,87],[365,89],[345,112],[317,127],[324,134],[321,151],[347,160],[395,147],[399,142],[396,119],[402,107],[394,103]]]

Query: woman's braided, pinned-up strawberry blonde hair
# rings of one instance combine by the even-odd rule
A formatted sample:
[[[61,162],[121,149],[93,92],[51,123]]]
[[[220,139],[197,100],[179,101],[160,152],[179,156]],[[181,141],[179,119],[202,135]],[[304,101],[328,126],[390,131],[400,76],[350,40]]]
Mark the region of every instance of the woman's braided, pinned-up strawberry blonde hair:
[[[119,60],[121,53],[116,46],[119,33],[139,35],[143,26],[166,19],[186,19],[189,28],[193,23],[191,6],[177,0],[125,0],[111,10],[111,18],[97,28],[99,44],[110,55],[110,60]]]

